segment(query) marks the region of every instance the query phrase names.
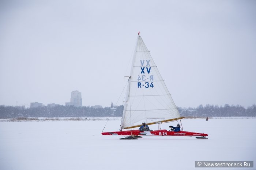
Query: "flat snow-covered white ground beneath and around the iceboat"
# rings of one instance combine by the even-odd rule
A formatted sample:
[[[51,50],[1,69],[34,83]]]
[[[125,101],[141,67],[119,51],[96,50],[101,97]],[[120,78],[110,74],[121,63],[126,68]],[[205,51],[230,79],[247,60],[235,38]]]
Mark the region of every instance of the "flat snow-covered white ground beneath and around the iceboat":
[[[195,161],[254,161],[244,169],[256,169],[256,119],[182,120],[184,130],[207,133],[208,140],[101,135],[106,123],[105,132],[116,131],[120,121],[0,122],[0,170],[200,169]]]

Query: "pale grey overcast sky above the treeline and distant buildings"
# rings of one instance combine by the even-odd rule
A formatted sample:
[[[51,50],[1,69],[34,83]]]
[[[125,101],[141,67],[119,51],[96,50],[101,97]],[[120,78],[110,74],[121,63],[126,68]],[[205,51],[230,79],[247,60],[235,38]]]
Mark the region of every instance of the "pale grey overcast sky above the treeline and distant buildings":
[[[256,104],[255,0],[2,0],[0,105],[115,104],[138,31],[177,106]]]

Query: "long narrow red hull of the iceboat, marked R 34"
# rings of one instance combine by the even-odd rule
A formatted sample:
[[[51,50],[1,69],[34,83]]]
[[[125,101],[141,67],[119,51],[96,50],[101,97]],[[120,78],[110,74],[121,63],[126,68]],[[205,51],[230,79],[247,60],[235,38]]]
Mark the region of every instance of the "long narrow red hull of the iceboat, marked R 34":
[[[154,131],[139,131],[139,130],[127,130],[127,131],[116,131],[116,132],[102,132],[102,135],[129,135],[129,136],[142,136],[142,135],[157,135],[157,136],[208,136],[204,133],[195,133],[187,131],[167,131],[167,130],[154,130]]]

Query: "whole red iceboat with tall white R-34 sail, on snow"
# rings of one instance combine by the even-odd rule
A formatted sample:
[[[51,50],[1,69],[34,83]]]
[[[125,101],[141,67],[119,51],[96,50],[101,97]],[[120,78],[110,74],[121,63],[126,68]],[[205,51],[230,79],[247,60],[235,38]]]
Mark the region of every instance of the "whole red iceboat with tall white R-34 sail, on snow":
[[[102,132],[102,135],[127,135],[121,139],[138,139],[144,135],[152,136],[190,136],[207,139],[208,134],[189,131],[162,130],[161,124],[178,121],[180,115],[172,96],[168,91],[158,68],[138,33],[131,73],[125,95],[123,116],[119,131]],[[158,124],[158,130],[127,130],[147,125]],[[181,124],[182,125],[182,124]]]

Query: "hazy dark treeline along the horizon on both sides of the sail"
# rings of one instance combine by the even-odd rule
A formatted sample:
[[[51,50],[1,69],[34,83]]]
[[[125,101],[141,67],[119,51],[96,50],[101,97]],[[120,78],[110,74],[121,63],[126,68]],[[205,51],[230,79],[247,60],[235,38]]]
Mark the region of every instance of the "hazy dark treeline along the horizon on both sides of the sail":
[[[75,106],[63,106],[57,105],[55,107],[37,107],[37,108],[20,108],[13,106],[0,106],[0,119],[7,118],[23,118],[23,117],[105,117],[114,116],[121,117],[123,114],[124,106],[118,106],[116,108],[93,108],[93,107],[75,107]],[[178,107],[181,116],[192,117],[229,117],[229,116],[256,116],[256,105],[253,104],[248,108],[244,108],[240,105],[225,104],[224,107],[218,105],[206,106],[200,105],[196,108]]]

